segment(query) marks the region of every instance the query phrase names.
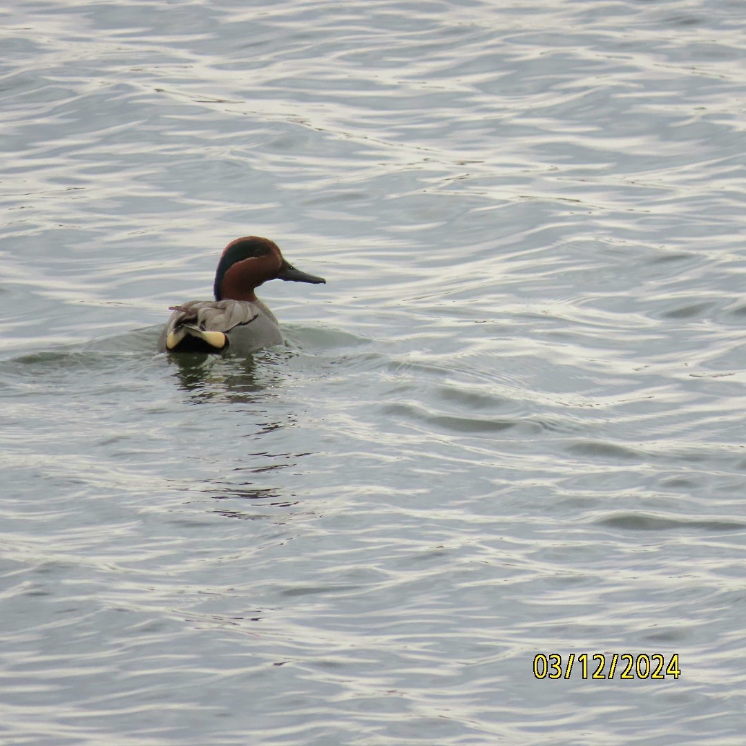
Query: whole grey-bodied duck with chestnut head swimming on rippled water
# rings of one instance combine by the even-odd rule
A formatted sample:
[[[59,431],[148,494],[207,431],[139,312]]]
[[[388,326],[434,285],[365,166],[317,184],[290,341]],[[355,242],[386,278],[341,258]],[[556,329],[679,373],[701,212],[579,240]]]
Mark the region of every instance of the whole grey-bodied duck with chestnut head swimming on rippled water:
[[[230,351],[245,356],[282,345],[275,314],[256,294],[257,287],[268,280],[326,283],[292,266],[274,241],[260,236],[237,238],[220,256],[213,284],[215,300],[170,306],[173,313],[160,333],[158,351]]]

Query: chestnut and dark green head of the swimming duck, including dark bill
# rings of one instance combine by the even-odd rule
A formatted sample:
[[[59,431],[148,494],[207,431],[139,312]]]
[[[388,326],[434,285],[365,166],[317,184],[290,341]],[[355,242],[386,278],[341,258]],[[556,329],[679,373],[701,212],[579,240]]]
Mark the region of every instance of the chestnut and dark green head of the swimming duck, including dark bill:
[[[274,241],[245,236],[231,241],[223,249],[215,273],[215,300],[256,301],[254,290],[267,280],[292,280],[314,285],[326,282],[324,278],[295,269],[283,258]]]

